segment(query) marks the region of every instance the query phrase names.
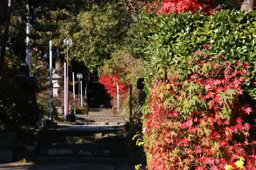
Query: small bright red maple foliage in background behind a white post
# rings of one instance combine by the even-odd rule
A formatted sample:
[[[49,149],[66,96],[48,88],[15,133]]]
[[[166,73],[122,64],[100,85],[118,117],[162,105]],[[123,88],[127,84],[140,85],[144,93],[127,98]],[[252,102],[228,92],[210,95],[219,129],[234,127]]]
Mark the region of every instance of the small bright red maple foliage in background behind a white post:
[[[102,75],[99,77],[99,83],[105,86],[105,89],[113,98],[117,96],[117,83],[119,87],[119,94],[127,92],[126,86],[121,82],[117,75]]]

